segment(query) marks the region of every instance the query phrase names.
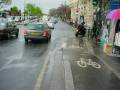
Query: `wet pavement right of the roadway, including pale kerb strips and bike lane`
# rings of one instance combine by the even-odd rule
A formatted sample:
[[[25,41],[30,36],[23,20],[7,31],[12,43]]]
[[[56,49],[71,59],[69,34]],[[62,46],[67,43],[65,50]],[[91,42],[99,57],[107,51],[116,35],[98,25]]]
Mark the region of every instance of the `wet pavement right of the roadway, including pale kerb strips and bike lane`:
[[[40,90],[120,90],[118,69],[108,63],[112,60],[86,38],[84,42],[80,47],[78,39],[70,38],[53,51]]]

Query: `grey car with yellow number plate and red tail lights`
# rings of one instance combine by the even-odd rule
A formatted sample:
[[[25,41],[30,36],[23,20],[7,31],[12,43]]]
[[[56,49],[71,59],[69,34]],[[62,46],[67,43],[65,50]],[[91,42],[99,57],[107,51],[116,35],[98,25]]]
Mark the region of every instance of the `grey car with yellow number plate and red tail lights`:
[[[26,43],[28,43],[28,40],[45,39],[49,41],[51,39],[51,30],[46,23],[29,23],[25,25],[24,38]]]

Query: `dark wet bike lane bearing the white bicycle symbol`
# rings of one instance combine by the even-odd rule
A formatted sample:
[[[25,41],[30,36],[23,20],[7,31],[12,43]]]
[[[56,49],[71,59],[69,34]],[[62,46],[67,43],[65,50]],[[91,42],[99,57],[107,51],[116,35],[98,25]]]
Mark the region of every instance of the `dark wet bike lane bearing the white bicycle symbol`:
[[[75,90],[120,90],[120,80],[86,47],[63,48],[69,61]]]

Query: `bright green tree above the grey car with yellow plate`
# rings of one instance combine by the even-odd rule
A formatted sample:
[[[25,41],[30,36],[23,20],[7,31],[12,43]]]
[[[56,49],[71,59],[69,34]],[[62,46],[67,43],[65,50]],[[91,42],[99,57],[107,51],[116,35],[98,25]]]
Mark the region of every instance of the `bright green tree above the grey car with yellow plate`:
[[[41,8],[30,3],[26,5],[25,13],[32,16],[42,16]]]

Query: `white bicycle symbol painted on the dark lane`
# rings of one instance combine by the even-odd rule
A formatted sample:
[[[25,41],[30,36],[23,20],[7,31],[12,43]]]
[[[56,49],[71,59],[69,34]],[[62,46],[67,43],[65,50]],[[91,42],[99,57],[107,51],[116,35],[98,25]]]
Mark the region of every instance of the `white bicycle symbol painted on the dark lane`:
[[[88,65],[97,69],[101,68],[101,65],[98,64],[97,62],[93,62],[92,59],[85,59],[85,58],[80,58],[80,60],[77,61],[77,65],[81,68],[85,68]]]

